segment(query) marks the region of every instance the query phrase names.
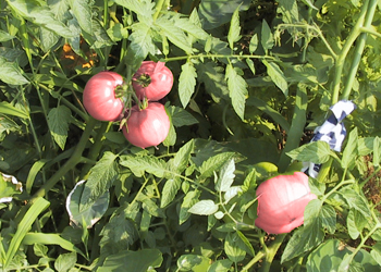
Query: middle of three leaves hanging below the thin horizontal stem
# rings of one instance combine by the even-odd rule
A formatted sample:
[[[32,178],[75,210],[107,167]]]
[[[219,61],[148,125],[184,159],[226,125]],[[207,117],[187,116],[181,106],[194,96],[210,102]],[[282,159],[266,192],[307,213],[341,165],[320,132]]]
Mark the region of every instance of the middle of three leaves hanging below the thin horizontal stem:
[[[244,120],[245,101],[247,97],[247,83],[244,77],[238,75],[232,64],[228,64],[225,79],[228,79],[229,96],[232,99],[232,104],[235,113]]]

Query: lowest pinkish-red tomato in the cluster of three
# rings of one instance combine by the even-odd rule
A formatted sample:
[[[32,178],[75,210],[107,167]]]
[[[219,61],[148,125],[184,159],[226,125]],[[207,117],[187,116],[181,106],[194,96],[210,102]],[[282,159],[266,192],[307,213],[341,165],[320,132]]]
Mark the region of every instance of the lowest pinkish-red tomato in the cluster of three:
[[[170,119],[164,106],[159,102],[148,102],[148,107],[139,110],[138,106],[131,109],[127,128],[123,126],[125,138],[134,146],[146,148],[158,146],[170,131]]]

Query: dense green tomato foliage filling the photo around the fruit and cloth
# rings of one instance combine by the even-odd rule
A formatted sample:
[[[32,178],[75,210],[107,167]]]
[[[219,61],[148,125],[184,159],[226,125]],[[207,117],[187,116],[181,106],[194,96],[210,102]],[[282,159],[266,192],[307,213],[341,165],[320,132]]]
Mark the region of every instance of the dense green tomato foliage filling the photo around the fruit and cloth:
[[[0,2],[1,271],[379,271],[377,0]],[[140,149],[88,115],[100,71],[173,75]],[[342,151],[312,141],[352,100]],[[304,225],[255,226],[256,188],[321,163]]]

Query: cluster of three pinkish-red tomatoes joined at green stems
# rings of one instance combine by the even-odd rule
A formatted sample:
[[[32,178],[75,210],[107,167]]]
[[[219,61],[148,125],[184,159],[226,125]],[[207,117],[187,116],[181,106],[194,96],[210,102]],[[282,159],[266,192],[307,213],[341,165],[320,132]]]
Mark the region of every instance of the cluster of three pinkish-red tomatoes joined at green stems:
[[[83,92],[84,107],[97,120],[121,121],[123,134],[132,145],[158,146],[170,131],[170,119],[158,100],[172,86],[172,72],[163,62],[144,61],[130,83],[111,71],[94,75]]]

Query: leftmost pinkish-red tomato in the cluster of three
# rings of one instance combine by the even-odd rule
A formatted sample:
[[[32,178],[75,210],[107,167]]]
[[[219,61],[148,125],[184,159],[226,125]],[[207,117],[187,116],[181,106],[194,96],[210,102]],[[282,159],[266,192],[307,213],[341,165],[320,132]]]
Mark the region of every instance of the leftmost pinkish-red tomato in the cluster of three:
[[[115,121],[123,112],[124,103],[115,97],[115,87],[123,77],[111,71],[94,75],[86,84],[83,99],[87,112],[100,121]]]

